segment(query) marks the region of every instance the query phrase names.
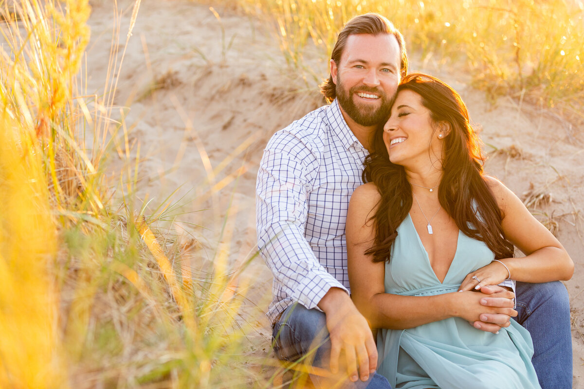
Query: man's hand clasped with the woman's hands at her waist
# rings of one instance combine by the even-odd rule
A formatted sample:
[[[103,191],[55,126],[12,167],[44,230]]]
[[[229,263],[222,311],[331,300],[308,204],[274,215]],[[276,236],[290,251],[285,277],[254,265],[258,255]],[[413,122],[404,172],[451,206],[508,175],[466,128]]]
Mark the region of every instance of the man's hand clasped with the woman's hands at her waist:
[[[502,310],[499,313],[493,313],[492,309],[513,308],[515,294],[499,285],[482,286],[478,293],[483,295],[479,302],[486,308],[485,312],[479,315],[480,320],[472,322],[472,326],[493,333],[498,332],[501,328],[509,327],[511,318],[517,316],[517,311],[512,309],[510,314],[503,313]]]

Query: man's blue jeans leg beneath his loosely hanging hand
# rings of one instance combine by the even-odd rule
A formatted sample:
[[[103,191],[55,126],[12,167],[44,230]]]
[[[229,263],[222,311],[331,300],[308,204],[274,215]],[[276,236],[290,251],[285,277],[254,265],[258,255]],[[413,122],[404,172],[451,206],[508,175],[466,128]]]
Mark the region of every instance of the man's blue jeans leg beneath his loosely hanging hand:
[[[304,358],[305,363],[329,370],[331,341],[326,330],[326,317],[321,311],[293,304],[274,324],[272,337],[274,352],[279,359],[296,361]],[[316,387],[327,386],[325,379],[320,376],[311,374],[310,379]],[[391,386],[385,377],[375,373],[365,382],[346,380],[342,388],[391,389]]]

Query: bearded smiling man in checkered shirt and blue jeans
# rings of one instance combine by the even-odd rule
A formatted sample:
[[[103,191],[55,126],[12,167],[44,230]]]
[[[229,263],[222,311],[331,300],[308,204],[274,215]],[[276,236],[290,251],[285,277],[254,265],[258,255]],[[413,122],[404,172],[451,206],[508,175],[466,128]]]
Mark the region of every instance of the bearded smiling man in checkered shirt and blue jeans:
[[[339,33],[331,74],[321,86],[331,105],[274,134],[258,172],[258,246],[274,275],[268,312],[274,351],[280,359],[305,358],[313,366],[330,367],[333,374],[342,364],[339,374],[341,379],[348,376],[347,387],[390,387],[375,373],[378,355],[371,330],[349,297],[345,219],[350,195],[361,184],[370,135],[387,119],[407,68],[404,39],[385,17],[368,13],[351,19]],[[540,350],[534,341],[534,363],[543,355],[540,370],[550,373],[544,388],[568,388],[571,358],[563,373],[551,371],[568,363],[566,353],[571,356],[567,292],[559,282],[541,285],[535,293],[526,288],[531,295],[545,296],[534,300],[537,315],[522,303],[518,286],[520,323],[534,338],[545,339]],[[473,325],[490,332],[509,325],[503,312],[513,307],[513,293],[500,286],[481,292],[481,303],[500,313],[482,314],[482,321]],[[562,327],[562,335],[544,336],[550,321],[554,328]],[[331,381],[324,376],[312,374],[311,380],[328,387]]]

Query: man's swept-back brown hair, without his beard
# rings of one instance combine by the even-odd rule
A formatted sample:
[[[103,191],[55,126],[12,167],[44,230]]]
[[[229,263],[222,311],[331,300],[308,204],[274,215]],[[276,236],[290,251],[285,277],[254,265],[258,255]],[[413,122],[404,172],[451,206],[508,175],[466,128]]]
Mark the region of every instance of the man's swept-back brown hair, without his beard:
[[[332,49],[331,59],[335,61],[338,66],[340,57],[345,50],[347,38],[354,34],[391,34],[393,35],[399,45],[399,54],[401,55],[400,73],[401,78],[404,78],[408,73],[408,53],[405,50],[404,36],[395,28],[394,24],[387,20],[387,17],[381,16],[378,13],[369,12],[363,15],[354,16],[345,24],[345,27],[340,31],[336,40],[335,47]],[[321,93],[324,94],[326,101],[329,103],[336,98],[336,85],[332,80],[332,75],[329,75],[328,80],[321,84]]]

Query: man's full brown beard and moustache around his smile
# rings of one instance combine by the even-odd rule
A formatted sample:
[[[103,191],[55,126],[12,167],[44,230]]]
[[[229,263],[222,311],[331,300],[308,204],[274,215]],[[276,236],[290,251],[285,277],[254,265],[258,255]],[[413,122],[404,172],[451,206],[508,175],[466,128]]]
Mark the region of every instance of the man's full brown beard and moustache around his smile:
[[[357,105],[353,101],[353,95],[356,91],[369,92],[380,94],[381,106],[379,108],[367,106],[366,104]],[[349,117],[359,125],[370,127],[385,122],[390,115],[392,100],[387,98],[383,90],[378,90],[365,85],[353,86],[349,89],[349,93],[343,87],[340,76],[337,75],[337,83],[335,87],[336,98],[339,100],[339,105]]]

